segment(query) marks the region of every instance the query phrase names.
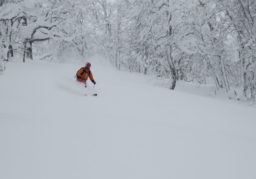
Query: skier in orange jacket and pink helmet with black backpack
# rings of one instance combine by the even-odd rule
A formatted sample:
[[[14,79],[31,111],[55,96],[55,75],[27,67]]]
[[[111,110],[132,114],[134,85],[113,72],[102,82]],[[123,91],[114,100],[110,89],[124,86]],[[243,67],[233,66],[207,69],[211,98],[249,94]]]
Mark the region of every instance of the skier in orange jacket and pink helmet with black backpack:
[[[84,67],[82,67],[80,70],[77,71],[77,81],[81,83],[85,83],[85,87],[87,86],[86,80],[88,77],[92,81],[93,84],[96,84],[96,82],[93,79],[92,72],[90,70],[91,68],[91,63],[87,62]]]

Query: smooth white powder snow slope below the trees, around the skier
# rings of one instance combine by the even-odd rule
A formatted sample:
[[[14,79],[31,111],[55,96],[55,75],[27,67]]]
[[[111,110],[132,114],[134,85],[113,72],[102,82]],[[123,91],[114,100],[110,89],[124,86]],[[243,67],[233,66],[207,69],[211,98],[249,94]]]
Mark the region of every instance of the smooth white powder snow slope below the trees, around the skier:
[[[90,62],[94,88],[73,78],[82,65],[6,63],[0,178],[255,178],[255,108]]]

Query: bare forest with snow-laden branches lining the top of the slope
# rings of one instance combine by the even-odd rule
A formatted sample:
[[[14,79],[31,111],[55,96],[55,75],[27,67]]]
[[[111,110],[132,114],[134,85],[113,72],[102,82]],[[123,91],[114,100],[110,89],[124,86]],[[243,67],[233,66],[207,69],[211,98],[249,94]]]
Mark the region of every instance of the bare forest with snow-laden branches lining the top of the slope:
[[[12,57],[99,55],[117,70],[256,100],[254,0],[0,0],[0,75]]]

